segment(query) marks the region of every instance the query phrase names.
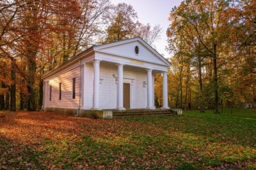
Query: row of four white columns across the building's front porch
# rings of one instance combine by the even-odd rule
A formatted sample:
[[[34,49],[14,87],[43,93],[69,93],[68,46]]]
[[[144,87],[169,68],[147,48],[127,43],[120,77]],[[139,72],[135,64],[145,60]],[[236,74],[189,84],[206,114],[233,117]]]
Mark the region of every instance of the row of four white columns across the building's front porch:
[[[146,109],[155,109],[154,105],[154,74],[156,73],[162,73],[163,76],[163,109],[169,109],[168,107],[168,99],[167,99],[167,71],[161,71],[161,70],[153,70],[153,69],[145,69],[145,67],[135,67],[133,65],[128,65],[125,63],[111,63],[106,62],[104,60],[95,59],[93,61],[94,66],[94,80],[93,80],[93,107],[91,109],[102,109],[99,107],[99,100],[100,100],[100,63],[108,63],[108,65],[113,65],[117,68],[117,76],[115,77],[117,79],[117,103],[116,103],[116,109],[119,110],[125,110],[129,108],[124,107],[124,68],[125,67],[132,67],[133,69],[140,69],[144,70],[147,79],[144,82],[144,86],[146,86]],[[131,78],[130,78],[131,79]],[[104,81],[104,80],[103,80]]]

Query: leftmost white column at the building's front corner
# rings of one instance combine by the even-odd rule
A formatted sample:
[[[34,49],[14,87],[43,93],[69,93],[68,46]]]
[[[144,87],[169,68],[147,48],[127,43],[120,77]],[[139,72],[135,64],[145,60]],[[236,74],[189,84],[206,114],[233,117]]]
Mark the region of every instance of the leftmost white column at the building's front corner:
[[[99,60],[96,59],[94,62],[94,74],[93,74],[93,108],[99,108]]]

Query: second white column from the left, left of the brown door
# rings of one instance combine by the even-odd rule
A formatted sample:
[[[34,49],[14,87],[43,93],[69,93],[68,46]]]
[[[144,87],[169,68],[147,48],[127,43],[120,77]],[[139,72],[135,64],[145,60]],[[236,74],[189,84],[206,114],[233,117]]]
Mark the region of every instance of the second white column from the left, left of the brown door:
[[[123,64],[117,64],[118,67],[118,78],[117,78],[117,109],[124,108],[124,74],[123,74]]]

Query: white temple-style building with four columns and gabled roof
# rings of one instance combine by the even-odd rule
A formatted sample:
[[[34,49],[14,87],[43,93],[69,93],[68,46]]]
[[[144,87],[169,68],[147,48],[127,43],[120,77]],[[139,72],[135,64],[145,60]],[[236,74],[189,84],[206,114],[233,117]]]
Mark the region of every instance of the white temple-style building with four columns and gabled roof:
[[[168,107],[170,63],[140,37],[94,45],[43,76],[45,110],[154,109],[154,74]]]

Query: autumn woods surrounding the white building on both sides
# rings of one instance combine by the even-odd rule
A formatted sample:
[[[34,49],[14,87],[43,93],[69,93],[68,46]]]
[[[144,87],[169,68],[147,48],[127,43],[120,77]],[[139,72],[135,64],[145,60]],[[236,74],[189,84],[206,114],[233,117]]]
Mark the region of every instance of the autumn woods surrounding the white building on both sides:
[[[255,1],[184,1],[170,11],[171,108],[255,103]],[[162,16],[167,18],[168,16]],[[108,0],[0,1],[0,108],[40,109],[41,76],[93,44],[160,39],[160,25],[137,20],[131,5]],[[161,105],[162,76],[155,100]]]

